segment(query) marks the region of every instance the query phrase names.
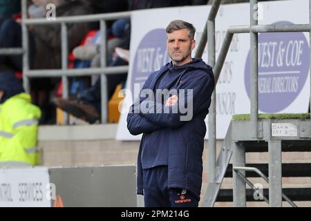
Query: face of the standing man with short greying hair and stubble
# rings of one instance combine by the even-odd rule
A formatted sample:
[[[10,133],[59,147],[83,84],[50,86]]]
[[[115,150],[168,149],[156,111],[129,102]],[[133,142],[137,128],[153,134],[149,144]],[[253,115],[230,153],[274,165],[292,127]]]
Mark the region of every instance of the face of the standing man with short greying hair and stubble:
[[[173,64],[177,66],[191,61],[191,51],[195,45],[196,41],[189,38],[186,28],[167,33],[167,51]]]

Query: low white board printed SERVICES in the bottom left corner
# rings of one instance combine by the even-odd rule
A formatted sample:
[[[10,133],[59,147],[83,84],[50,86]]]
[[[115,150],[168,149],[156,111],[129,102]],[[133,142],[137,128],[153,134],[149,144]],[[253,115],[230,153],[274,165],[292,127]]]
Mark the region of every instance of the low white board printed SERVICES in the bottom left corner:
[[[0,169],[0,207],[50,207],[47,168]]]

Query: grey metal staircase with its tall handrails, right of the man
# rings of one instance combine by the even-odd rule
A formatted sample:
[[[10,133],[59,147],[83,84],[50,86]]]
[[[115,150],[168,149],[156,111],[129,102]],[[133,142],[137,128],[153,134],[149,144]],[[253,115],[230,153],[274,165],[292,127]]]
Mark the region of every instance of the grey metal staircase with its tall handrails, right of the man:
[[[309,2],[309,17],[311,21],[311,1]],[[288,117],[287,119],[277,117],[258,118],[258,33],[309,32],[311,42],[310,22],[308,24],[286,26],[258,25],[258,20],[256,20],[255,16],[258,13],[256,10],[258,8],[257,4],[257,0],[249,1],[250,25],[228,28],[216,61],[215,19],[220,7],[220,0],[214,0],[205,27],[207,36],[203,36],[205,38],[201,39],[198,46],[196,57],[201,57],[202,48],[205,48],[208,41],[208,63],[214,68],[215,82],[217,84],[233,36],[238,33],[249,33],[250,35],[251,106],[250,115],[248,115],[249,119],[231,122],[221,146],[221,151],[216,159],[215,88],[209,108],[209,184],[205,191],[202,206],[214,206],[214,203],[217,201],[232,202],[232,200],[234,206],[246,206],[247,201],[255,200],[253,196],[254,191],[256,191],[254,184],[250,183],[247,178],[258,177],[258,174],[263,177],[263,182],[269,182],[269,189],[263,189],[262,199],[269,202],[270,206],[282,206],[283,200],[287,200],[292,206],[296,206],[292,201],[311,201],[311,189],[309,188],[282,189],[282,177],[311,177],[310,163],[282,164],[281,157],[282,152],[311,152],[310,120],[296,118],[296,116]],[[310,114],[308,114],[308,118],[310,119]],[[245,153],[249,152],[267,152],[269,156],[267,164],[246,164]],[[232,156],[233,164],[229,164]],[[247,173],[245,173],[246,171]],[[220,189],[225,177],[232,177],[232,189]],[[251,186],[251,189],[246,189],[246,184]]]

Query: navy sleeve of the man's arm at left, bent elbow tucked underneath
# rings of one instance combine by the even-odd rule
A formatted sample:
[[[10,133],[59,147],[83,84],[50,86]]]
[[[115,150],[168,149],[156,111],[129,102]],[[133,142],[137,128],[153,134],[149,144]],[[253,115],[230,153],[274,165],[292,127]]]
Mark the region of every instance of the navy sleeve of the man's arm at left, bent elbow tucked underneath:
[[[148,79],[144,83],[144,86],[142,86],[142,90],[148,87],[150,79],[151,76],[148,77]],[[147,118],[140,115],[140,103],[144,101],[144,99],[146,99],[145,97],[141,96],[142,90],[140,91],[140,97],[138,101],[135,102],[129,109],[129,114],[127,115],[126,119],[127,128],[129,129],[131,135],[139,135],[140,133],[150,133],[152,131],[157,131],[161,128],[161,126],[158,126],[157,124],[150,122]]]

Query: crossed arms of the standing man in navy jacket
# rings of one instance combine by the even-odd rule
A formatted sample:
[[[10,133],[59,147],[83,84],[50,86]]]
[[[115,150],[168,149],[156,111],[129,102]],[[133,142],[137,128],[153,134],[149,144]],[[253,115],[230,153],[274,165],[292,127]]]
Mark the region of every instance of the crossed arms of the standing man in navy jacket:
[[[147,88],[148,80],[142,87],[142,90]],[[198,115],[202,111],[209,108],[211,102],[211,93],[214,90],[214,79],[210,75],[197,74],[195,77],[189,77],[184,80],[184,84],[179,89],[185,89],[185,96],[178,97],[173,95],[167,99],[164,105],[140,96],[135,102],[127,116],[127,128],[132,135],[140,133],[150,133],[160,130],[161,128],[178,128],[187,123],[186,120],[181,120],[182,113],[174,112],[173,109],[179,106],[180,102],[185,102],[185,106],[192,104],[192,117]],[[191,89],[191,93],[188,93]],[[190,96],[191,95],[191,96]],[[147,112],[140,111],[141,106],[147,107]]]

